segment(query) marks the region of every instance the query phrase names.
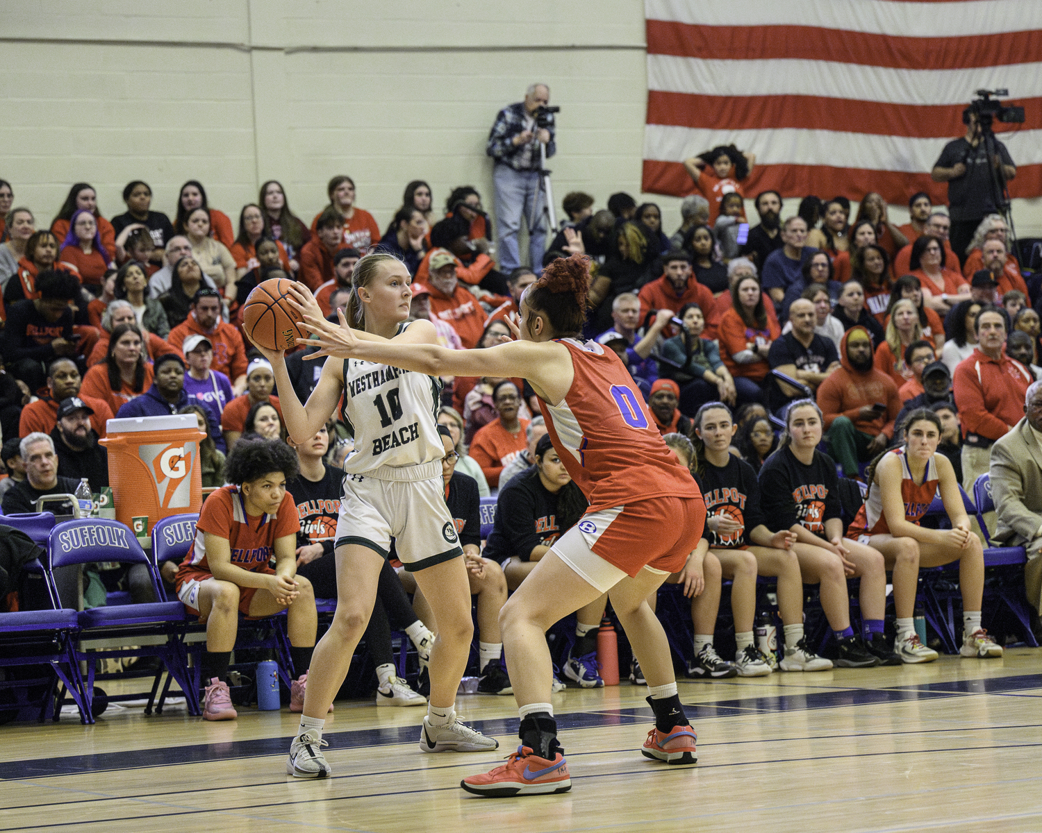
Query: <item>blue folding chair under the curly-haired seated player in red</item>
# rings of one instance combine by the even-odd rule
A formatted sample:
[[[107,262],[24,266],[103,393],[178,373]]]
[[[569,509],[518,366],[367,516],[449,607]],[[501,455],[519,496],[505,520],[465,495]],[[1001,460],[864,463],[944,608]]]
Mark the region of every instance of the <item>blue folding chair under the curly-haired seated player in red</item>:
[[[163,564],[167,561],[181,561],[188,555],[192,542],[196,536],[196,524],[199,515],[195,513],[174,514],[157,521],[152,528],[152,559],[158,576],[163,570]],[[187,610],[180,600],[172,592],[167,592],[159,581],[159,590],[163,595],[160,599],[172,599],[174,603],[180,605],[181,613],[184,616],[183,634],[181,645],[185,655],[191,658],[190,675],[191,685],[194,692],[198,692],[201,686],[200,667],[202,662],[202,652],[206,648],[206,626],[194,619],[189,617]],[[336,600],[333,600],[336,606]],[[290,654],[290,638],[286,631],[286,612],[276,613],[260,620],[251,620],[239,614],[239,630],[235,636],[235,650],[246,649],[267,649],[274,652],[275,663],[278,666],[278,676],[282,684],[289,688],[298,675],[293,668],[293,661]],[[176,678],[175,678],[176,679]],[[177,680],[180,684],[180,680]],[[162,711],[163,702],[170,687],[169,680],[159,696],[156,712]],[[182,686],[183,687],[183,686]]]

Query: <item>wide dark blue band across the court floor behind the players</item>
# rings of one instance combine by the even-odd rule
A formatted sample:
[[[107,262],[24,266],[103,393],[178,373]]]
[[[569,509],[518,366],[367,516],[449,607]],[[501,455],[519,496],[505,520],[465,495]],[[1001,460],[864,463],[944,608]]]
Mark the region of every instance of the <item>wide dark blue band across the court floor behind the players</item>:
[[[897,686],[893,688],[848,688],[845,690],[816,691],[808,695],[777,695],[726,700],[706,704],[685,705],[689,717],[698,722],[714,717],[733,717],[747,714],[767,714],[785,711],[807,711],[821,708],[874,705],[947,698],[956,695],[1006,693],[1042,686],[1038,675],[992,677],[983,680],[927,683],[925,685]],[[562,731],[603,726],[623,726],[644,723],[652,715],[650,708],[598,709],[557,715]],[[487,735],[517,734],[518,718],[474,721],[475,729]],[[380,729],[359,729],[324,734],[339,749],[387,746],[417,742],[419,727],[400,726]],[[38,758],[0,763],[0,781],[23,780],[59,775],[79,775],[93,772],[166,766],[183,763],[202,763],[212,760],[255,758],[278,755],[286,751],[286,737],[255,738],[221,743],[199,743],[184,747],[166,747],[132,752],[108,752],[92,755],[72,755],[64,758]],[[503,747],[505,749],[505,747]]]

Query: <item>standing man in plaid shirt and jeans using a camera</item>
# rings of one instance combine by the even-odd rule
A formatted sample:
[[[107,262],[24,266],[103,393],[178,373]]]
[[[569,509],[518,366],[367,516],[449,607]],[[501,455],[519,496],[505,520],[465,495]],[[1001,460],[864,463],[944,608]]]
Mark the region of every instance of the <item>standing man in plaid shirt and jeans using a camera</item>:
[[[532,84],[524,101],[503,107],[489,133],[486,152],[496,160],[493,182],[496,186],[496,230],[499,235],[499,268],[504,273],[521,266],[518,232],[521,217],[528,226],[528,251],[531,268],[543,270],[546,249],[546,195],[540,188],[540,145],[550,157],[553,143],[553,116],[547,110],[550,87]]]

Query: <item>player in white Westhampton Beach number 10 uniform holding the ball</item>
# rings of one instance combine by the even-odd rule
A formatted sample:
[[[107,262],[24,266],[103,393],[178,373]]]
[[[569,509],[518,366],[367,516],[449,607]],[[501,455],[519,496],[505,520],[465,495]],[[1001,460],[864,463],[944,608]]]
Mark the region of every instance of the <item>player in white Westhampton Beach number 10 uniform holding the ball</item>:
[[[354,268],[346,314],[368,337],[404,344],[438,344],[433,326],[408,318],[411,278],[389,254],[371,254]],[[296,286],[297,284],[295,284]],[[321,314],[306,289],[298,294]],[[424,752],[483,752],[499,743],[455,717],[456,688],[473,636],[470,587],[463,550],[445,505],[442,457],[435,421],[438,379],[357,359],[325,362],[318,385],[301,405],[280,351],[259,348],[272,363],[282,414],[297,443],[325,425],[344,395],[342,418],[354,431],[354,451],[344,461],[344,497],[337,524],[337,613],[315,647],[300,728],[286,771],[297,778],[327,778],[321,747],[324,718],[347,676],[376,598],[380,566],[396,540],[398,557],[430,603],[438,638],[430,657],[430,701],[423,718]]]

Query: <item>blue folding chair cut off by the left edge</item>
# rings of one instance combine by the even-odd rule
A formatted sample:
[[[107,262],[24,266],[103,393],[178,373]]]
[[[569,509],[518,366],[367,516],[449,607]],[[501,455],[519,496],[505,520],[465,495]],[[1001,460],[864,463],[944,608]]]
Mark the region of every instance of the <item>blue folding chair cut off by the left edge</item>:
[[[49,515],[50,525],[53,526],[54,515],[50,512],[45,514]],[[39,521],[38,534],[47,523],[46,519],[39,519]],[[16,523],[30,525],[22,519],[10,516],[0,519],[0,523],[16,529],[19,528]],[[33,536],[30,534],[29,537]],[[46,534],[43,537],[46,542]],[[46,557],[46,552],[42,554]],[[60,681],[65,686],[65,691],[68,691],[76,703],[80,723],[92,724],[94,717],[86,706],[83,681],[79,674],[79,663],[76,662],[73,648],[73,641],[79,631],[76,610],[60,607],[50,582],[46,581],[44,565],[39,558],[25,564],[23,570],[30,575],[39,576],[40,580],[43,581],[51,609],[0,613],[0,667],[27,667],[46,664],[54,674],[42,678],[21,678],[0,682],[0,689],[16,692],[15,702],[4,705],[16,710],[20,710],[22,706],[30,705],[29,701],[21,696],[21,692],[28,692],[32,687],[43,685],[45,688],[41,699],[39,720],[43,723],[48,716],[48,710],[53,709],[53,716],[56,721],[61,713],[59,704],[60,700],[64,699],[64,692],[57,697],[56,691],[57,683]]]

